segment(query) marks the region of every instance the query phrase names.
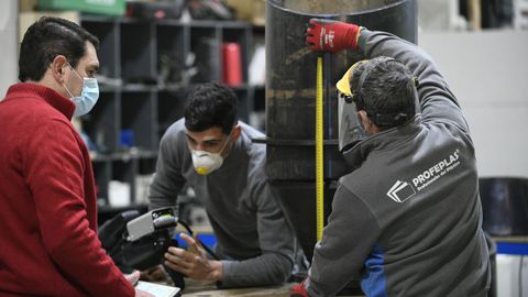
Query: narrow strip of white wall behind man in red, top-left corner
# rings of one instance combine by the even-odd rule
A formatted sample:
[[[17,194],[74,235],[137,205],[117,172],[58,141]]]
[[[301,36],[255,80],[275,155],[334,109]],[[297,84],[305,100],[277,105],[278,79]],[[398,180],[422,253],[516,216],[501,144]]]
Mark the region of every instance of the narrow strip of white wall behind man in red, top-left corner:
[[[16,82],[19,73],[18,6],[18,0],[0,1],[0,100],[6,96],[8,87]]]

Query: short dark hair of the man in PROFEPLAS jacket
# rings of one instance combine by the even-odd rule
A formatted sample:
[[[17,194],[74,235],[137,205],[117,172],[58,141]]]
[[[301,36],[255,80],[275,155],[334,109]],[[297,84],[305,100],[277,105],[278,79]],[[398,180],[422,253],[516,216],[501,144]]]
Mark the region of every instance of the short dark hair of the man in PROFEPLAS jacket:
[[[358,110],[380,128],[400,125],[417,112],[416,79],[400,62],[375,57],[360,63],[350,76]]]

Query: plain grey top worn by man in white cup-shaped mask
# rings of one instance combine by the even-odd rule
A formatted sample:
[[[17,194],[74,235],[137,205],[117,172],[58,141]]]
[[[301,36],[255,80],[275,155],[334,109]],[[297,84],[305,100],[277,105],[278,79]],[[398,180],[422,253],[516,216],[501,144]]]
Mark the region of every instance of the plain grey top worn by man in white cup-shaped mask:
[[[263,134],[242,127],[223,165],[209,175],[195,172],[184,119],[172,124],[160,144],[150,186],[151,208],[175,206],[189,185],[205,207],[223,258],[222,287],[279,284],[292,273],[294,235],[265,174],[266,146],[252,143]]]

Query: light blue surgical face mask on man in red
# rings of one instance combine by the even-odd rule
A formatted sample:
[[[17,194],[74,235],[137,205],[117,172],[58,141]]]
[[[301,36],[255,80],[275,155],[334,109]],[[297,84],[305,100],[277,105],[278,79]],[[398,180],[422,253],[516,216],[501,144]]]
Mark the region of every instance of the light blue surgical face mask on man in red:
[[[85,116],[86,113],[90,112],[94,106],[96,106],[97,99],[99,99],[99,85],[97,84],[96,78],[81,78],[80,75],[74,69],[74,67],[72,67],[72,65],[69,65],[69,67],[75,73],[75,75],[82,80],[82,91],[80,92],[80,96],[74,96],[68,90],[65,84],[63,84],[63,87],[66,89],[69,97],[72,98],[72,101],[74,101],[75,103],[74,117]]]

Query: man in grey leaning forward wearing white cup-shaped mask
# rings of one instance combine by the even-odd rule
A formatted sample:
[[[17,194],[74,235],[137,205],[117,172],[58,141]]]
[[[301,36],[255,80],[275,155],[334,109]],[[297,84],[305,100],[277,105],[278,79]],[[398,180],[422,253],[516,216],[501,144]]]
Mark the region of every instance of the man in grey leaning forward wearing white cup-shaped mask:
[[[150,207],[175,206],[189,185],[205,207],[217,238],[208,260],[195,240],[182,234],[187,251],[169,248],[165,265],[221,287],[279,284],[293,268],[294,237],[265,175],[263,134],[238,121],[238,98],[209,82],[188,97],[185,119],[162,138]]]

